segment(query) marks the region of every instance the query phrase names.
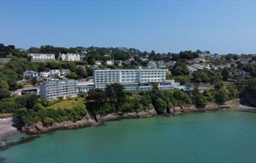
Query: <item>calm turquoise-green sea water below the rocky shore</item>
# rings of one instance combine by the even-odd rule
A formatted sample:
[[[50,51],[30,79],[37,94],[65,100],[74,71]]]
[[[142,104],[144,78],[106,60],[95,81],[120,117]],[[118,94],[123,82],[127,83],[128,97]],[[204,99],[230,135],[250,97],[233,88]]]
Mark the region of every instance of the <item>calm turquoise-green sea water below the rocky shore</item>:
[[[4,162],[256,162],[256,114],[121,120],[54,132],[1,151]]]

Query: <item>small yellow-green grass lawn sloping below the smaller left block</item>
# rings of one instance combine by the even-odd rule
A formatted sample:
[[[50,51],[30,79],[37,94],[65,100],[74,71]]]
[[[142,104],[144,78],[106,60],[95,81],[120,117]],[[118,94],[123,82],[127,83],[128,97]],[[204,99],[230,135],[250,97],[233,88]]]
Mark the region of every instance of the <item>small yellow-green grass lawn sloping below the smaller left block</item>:
[[[85,103],[84,98],[76,97],[73,99],[64,99],[61,102],[57,102],[53,105],[50,105],[48,108],[73,108],[74,105],[79,105],[84,103]]]

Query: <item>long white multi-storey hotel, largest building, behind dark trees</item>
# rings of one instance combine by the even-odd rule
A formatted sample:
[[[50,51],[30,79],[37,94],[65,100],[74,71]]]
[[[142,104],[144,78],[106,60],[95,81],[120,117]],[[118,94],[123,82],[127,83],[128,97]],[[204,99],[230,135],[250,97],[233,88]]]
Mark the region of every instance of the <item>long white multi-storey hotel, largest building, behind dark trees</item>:
[[[168,90],[180,88],[174,80],[166,80],[165,69],[136,69],[136,70],[95,70],[95,88],[106,88],[107,84],[119,83],[125,90],[150,90],[152,84],[158,84],[159,89]]]

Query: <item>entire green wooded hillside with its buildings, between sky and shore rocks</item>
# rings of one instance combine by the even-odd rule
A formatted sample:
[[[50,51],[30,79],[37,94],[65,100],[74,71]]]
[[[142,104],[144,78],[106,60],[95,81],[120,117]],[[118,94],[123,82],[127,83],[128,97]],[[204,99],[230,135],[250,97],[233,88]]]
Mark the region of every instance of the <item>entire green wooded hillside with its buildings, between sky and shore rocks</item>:
[[[255,54],[0,44],[0,57],[1,114],[15,114],[23,124],[76,122],[86,113],[170,114],[175,107],[198,109],[239,98],[256,105]]]

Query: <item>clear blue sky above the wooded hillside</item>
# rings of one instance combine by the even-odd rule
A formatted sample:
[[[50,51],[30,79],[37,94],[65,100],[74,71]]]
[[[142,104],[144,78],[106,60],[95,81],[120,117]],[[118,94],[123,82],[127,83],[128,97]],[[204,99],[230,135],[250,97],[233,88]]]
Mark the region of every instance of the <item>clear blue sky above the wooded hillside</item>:
[[[0,1],[0,43],[256,53],[256,1]]]

